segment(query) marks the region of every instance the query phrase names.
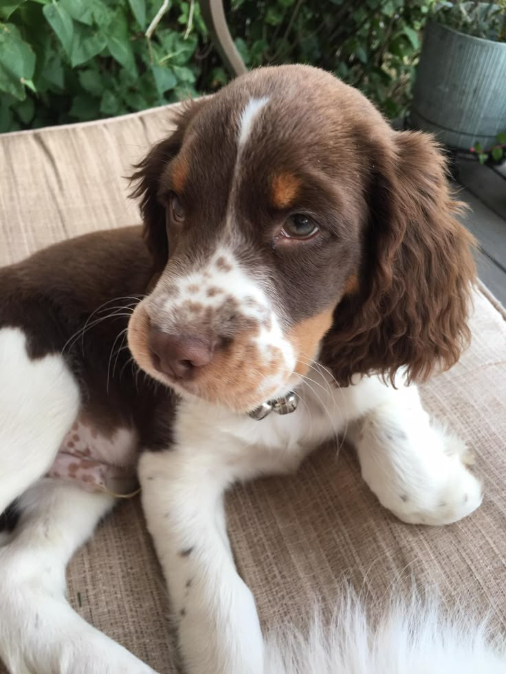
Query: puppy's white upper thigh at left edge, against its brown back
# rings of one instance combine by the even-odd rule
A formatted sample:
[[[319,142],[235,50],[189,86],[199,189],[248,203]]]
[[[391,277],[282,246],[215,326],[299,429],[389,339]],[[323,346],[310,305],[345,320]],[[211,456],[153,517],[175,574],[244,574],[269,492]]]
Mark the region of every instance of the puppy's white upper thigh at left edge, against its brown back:
[[[30,359],[22,330],[0,330],[0,515],[49,469],[79,409],[60,355]]]

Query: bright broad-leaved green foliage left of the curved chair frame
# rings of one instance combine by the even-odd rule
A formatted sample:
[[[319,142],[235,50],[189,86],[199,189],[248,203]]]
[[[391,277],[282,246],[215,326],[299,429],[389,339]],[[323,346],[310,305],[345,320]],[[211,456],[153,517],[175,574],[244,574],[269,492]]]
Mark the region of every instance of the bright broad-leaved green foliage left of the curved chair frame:
[[[197,5],[24,0],[0,5],[0,130],[91,120],[195,95]],[[146,36],[147,35],[147,36]]]

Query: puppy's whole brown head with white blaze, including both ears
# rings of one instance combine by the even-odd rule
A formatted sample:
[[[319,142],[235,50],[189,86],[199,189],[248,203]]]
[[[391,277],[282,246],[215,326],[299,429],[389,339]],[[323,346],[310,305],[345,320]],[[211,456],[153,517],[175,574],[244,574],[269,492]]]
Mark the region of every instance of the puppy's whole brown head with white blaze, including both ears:
[[[474,266],[444,160],[331,75],[234,80],[188,106],[134,179],[159,278],[129,345],[182,395],[246,412],[318,355],[340,383],[458,359]]]

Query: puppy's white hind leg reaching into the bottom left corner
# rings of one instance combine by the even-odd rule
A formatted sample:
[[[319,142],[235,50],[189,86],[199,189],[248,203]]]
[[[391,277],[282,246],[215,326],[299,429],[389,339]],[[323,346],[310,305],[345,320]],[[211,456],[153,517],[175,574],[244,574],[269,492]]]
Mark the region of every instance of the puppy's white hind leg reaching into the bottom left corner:
[[[0,548],[0,658],[12,673],[153,672],[65,600],[65,565],[112,505],[108,495],[51,478],[19,499],[19,523]]]

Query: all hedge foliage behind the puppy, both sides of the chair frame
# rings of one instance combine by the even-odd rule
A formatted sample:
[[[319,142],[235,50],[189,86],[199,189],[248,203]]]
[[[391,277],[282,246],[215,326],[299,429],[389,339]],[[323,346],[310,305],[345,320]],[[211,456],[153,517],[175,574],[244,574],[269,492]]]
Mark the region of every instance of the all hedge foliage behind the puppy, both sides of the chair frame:
[[[196,0],[0,0],[0,131],[120,115],[228,81]],[[387,115],[409,101],[433,0],[229,0],[248,67],[311,63]]]

